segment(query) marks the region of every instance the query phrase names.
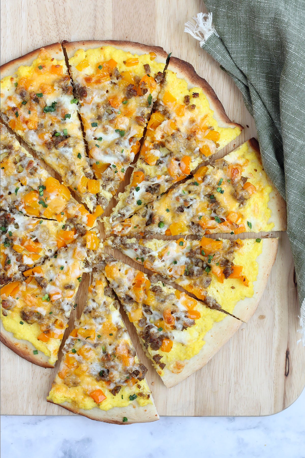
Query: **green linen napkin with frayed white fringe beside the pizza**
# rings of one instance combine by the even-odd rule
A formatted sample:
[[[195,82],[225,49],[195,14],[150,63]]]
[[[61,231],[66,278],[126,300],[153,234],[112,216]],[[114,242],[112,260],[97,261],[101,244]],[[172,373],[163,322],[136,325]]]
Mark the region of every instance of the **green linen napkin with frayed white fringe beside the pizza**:
[[[198,13],[185,32],[241,90],[255,120],[264,169],[287,202],[305,345],[305,2],[205,0],[205,5],[211,13]]]

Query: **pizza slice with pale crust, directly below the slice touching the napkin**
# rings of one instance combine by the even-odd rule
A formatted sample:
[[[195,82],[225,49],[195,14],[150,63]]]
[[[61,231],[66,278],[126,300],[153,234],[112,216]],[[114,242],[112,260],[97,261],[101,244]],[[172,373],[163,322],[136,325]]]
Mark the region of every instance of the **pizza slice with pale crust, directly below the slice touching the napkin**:
[[[278,239],[110,237],[105,244],[244,322],[257,309],[278,250]]]

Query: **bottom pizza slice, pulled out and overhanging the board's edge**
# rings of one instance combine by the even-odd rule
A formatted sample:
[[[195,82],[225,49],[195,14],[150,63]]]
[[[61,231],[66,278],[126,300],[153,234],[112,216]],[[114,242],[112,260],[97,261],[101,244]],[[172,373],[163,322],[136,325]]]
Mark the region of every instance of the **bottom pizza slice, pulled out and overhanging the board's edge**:
[[[119,303],[97,269],[86,307],[67,338],[48,402],[92,420],[130,424],[155,421],[155,409],[119,312]]]

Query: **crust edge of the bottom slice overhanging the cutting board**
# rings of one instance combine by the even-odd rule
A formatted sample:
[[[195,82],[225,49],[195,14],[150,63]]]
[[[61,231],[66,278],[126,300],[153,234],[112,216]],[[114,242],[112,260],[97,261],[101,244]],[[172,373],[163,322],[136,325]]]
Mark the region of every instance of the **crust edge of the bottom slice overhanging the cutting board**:
[[[49,399],[47,399],[47,401],[55,404]],[[83,415],[91,420],[104,421],[106,423],[114,423],[116,425],[131,425],[132,423],[146,423],[149,421],[159,420],[155,404],[147,404],[142,407],[135,403],[129,404],[126,407],[113,407],[110,410],[101,410],[98,407],[94,407],[91,410],[85,410],[75,407],[69,402],[56,405],[60,405],[74,414]],[[128,421],[123,422],[123,417],[126,417]]]

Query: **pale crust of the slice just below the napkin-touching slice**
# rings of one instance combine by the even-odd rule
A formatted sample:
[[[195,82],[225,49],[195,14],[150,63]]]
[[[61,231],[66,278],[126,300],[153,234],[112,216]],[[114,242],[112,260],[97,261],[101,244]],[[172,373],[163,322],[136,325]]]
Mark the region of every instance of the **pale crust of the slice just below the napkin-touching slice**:
[[[254,292],[252,297],[246,297],[235,305],[232,315],[243,322],[248,322],[257,309],[278,252],[278,239],[262,239],[262,253],[257,258],[258,274],[253,282]]]

